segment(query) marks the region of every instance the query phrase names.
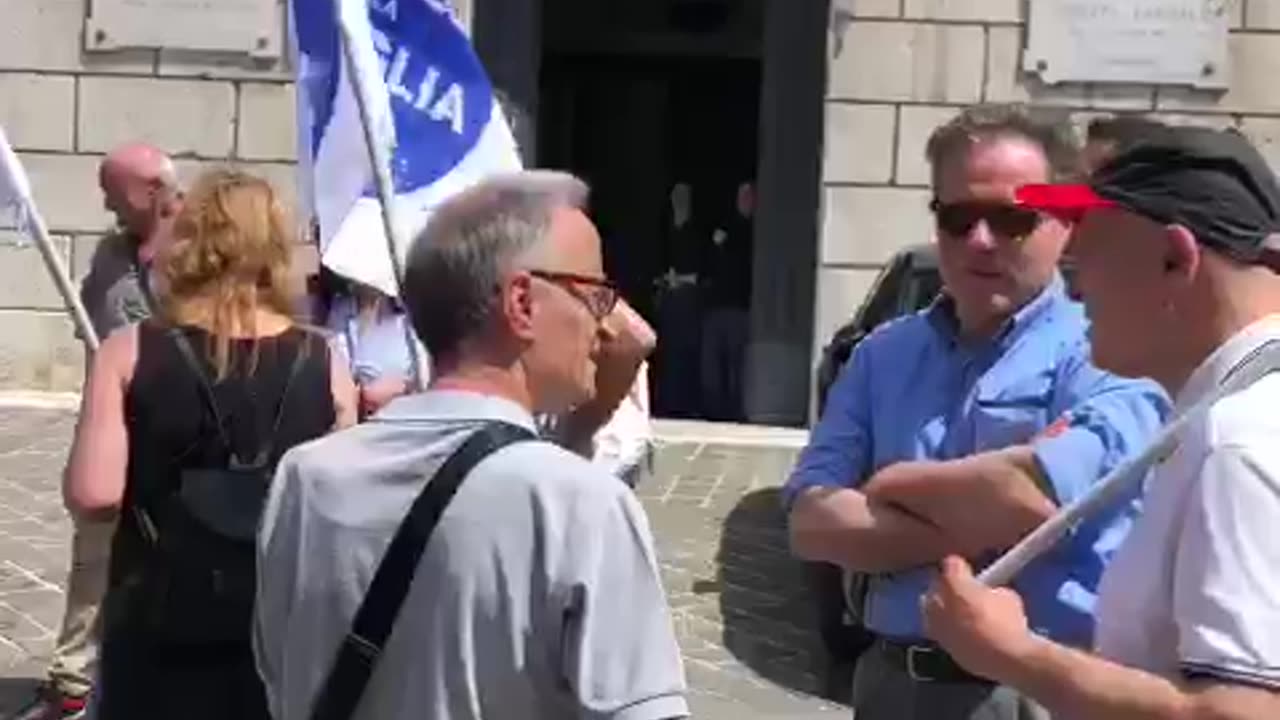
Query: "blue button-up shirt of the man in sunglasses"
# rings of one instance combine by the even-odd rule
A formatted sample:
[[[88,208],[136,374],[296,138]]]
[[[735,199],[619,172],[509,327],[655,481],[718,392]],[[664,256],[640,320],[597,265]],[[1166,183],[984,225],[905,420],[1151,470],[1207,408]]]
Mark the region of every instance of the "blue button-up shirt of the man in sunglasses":
[[[858,488],[895,462],[1020,443],[1032,443],[1055,500],[1066,503],[1140,451],[1169,411],[1157,384],[1089,363],[1087,320],[1060,278],[993,340],[961,338],[954,318],[941,300],[855,347],[783,491],[788,505],[812,487]],[[1023,570],[1014,585],[1037,632],[1091,643],[1098,579],[1138,510],[1135,491]],[[918,568],[874,577],[868,628],[897,639],[923,637],[919,600],[933,574]]]

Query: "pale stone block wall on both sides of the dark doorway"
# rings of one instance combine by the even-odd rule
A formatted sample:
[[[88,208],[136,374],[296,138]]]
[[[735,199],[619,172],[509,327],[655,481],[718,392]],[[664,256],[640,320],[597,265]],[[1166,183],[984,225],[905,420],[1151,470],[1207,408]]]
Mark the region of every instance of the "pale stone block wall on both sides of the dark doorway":
[[[486,1],[463,3],[463,17]],[[771,12],[796,3],[769,1],[778,5]],[[827,65],[826,94],[812,97],[824,118],[820,192],[812,208],[818,231],[805,254],[815,260],[795,300],[806,327],[782,343],[796,347],[760,355],[751,384],[773,400],[758,402],[753,416],[803,420],[808,402],[797,396],[805,395],[814,348],[851,314],[896,249],[929,240],[924,141],[959,108],[1020,100],[1064,108],[1082,124],[1100,113],[1135,111],[1234,126],[1280,167],[1280,0],[1229,1],[1226,92],[1042,86],[1019,69],[1028,1],[1036,0],[829,0],[826,36],[808,38],[826,45]],[[84,14],[86,0],[0,0],[0,126],[77,275],[109,223],[95,172],[118,142],[155,142],[179,158],[188,177],[233,161],[293,186],[294,109],[283,63],[169,50],[90,54],[82,49]],[[768,87],[763,97],[768,105]],[[776,110],[762,108],[762,117]],[[780,365],[786,382],[778,383],[771,359],[783,356],[791,360]],[[37,252],[0,234],[0,388],[67,391],[81,377],[81,350]],[[778,387],[788,400],[777,400]]]

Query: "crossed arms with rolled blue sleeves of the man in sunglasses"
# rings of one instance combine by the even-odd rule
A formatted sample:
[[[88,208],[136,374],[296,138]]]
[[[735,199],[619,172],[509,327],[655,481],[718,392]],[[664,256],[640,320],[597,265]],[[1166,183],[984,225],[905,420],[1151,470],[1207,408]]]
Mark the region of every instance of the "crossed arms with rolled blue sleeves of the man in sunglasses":
[[[1012,546],[1144,442],[1167,405],[1149,383],[1103,375],[1080,361],[1061,373],[1056,405],[1073,410],[1061,436],[870,473],[865,364],[855,351],[790,483],[796,555],[864,573]]]

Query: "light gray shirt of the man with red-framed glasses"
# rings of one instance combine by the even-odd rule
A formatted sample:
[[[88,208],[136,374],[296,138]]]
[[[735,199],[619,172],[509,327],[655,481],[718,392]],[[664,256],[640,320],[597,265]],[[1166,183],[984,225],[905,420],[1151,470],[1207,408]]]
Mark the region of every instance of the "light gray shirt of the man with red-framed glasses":
[[[401,397],[289,451],[259,536],[255,650],[276,720],[310,717],[392,536],[481,423],[467,392]],[[547,442],[484,460],[424,553],[357,719],[684,717],[685,678],[635,495]]]

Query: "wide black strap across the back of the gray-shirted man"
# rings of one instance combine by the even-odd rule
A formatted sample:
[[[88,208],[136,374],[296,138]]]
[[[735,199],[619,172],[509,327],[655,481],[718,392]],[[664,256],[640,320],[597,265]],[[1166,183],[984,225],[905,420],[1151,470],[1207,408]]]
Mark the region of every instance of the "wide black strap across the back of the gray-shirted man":
[[[408,515],[396,530],[387,553],[369,585],[365,600],[356,611],[351,630],[338,648],[338,657],[325,678],[312,720],[348,720],[360,705],[365,687],[378,666],[396,618],[404,605],[417,564],[431,538],[431,532],[444,515],[444,509],[457,493],[462,480],[485,457],[515,442],[536,436],[520,425],[489,423],[468,437],[435,477],[426,483]]]

